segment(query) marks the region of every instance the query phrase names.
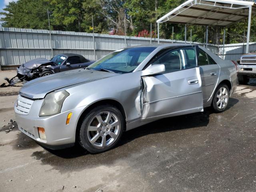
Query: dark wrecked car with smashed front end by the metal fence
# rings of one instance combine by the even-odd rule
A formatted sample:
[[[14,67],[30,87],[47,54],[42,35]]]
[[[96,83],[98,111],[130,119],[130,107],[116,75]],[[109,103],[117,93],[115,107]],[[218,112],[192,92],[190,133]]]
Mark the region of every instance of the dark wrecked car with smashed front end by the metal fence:
[[[51,60],[46,58],[37,58],[30,60],[17,68],[17,75],[12,79],[5,78],[12,86],[18,81],[30,81],[32,79],[47,76],[50,74],[85,68],[94,63],[79,54],[58,54]]]

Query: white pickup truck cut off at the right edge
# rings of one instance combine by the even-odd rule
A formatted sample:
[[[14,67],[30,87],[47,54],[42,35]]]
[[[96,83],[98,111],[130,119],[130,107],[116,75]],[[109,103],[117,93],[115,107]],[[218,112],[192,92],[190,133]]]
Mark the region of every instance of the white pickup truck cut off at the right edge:
[[[240,84],[246,84],[250,78],[256,78],[256,51],[241,56],[237,72]]]

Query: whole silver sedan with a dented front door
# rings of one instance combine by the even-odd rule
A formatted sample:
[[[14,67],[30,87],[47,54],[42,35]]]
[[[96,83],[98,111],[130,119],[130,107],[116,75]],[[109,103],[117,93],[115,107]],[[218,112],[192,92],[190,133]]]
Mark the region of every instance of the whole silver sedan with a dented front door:
[[[236,85],[236,66],[205,48],[136,46],[26,83],[14,109],[19,129],[41,145],[99,153],[143,124],[208,106],[222,112]]]

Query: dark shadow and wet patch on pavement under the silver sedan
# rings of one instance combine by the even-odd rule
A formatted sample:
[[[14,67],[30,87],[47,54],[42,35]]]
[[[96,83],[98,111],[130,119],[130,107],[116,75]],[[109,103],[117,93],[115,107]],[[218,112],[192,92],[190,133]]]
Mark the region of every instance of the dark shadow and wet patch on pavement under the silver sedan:
[[[227,110],[237,102],[237,99],[230,98]],[[177,137],[177,134],[180,133],[175,134],[175,131],[183,134],[181,130],[184,129],[195,129],[199,132],[207,130],[209,116],[212,113],[211,108],[206,108],[204,112],[165,118],[140,126],[124,132],[120,142],[114,149],[101,154],[90,154],[80,146],[74,146],[62,150],[44,148],[45,150],[33,152],[31,156],[41,160],[42,164],[53,166],[54,169],[60,170],[60,172],[114,164],[116,160],[127,158],[136,152],[140,153],[142,150],[152,146],[159,146],[159,144],[164,144],[165,141],[168,141],[171,145],[175,145],[177,140],[182,142],[183,137]],[[193,136],[186,136],[193,139]]]

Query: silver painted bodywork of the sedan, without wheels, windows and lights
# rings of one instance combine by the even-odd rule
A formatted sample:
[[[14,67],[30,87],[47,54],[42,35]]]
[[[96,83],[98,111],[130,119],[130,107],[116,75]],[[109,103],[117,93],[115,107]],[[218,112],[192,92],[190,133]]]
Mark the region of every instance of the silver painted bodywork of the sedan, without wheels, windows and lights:
[[[223,80],[228,80],[232,84],[231,93],[235,90],[237,77],[234,64],[222,60],[201,47],[219,66],[214,85],[205,83],[205,86],[210,87],[206,90],[212,92],[203,94],[205,90],[202,83],[205,80],[202,78],[205,76],[200,75],[203,69],[201,67],[142,76],[143,68],[156,53],[168,47],[184,46],[184,44],[152,46],[156,49],[131,73],[117,74],[78,69],[37,78],[26,83],[20,90],[19,98],[30,98],[33,104],[28,114],[15,113],[20,130],[45,144],[70,144],[76,140],[78,120],[83,118],[84,111],[102,100],[112,100],[122,106],[126,130],[130,130],[159,118],[202,111],[203,107],[210,106],[214,91]],[[191,45],[185,44],[185,46]],[[206,72],[212,72],[212,69],[205,70]],[[188,84],[188,81],[192,84]],[[40,117],[39,111],[44,97],[54,90],[66,90],[70,95],[64,100],[60,114]],[[70,123],[66,125],[69,112],[73,114]],[[45,129],[46,141],[40,140],[37,127]]]

